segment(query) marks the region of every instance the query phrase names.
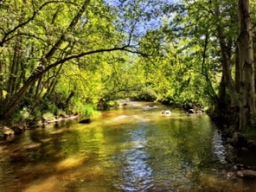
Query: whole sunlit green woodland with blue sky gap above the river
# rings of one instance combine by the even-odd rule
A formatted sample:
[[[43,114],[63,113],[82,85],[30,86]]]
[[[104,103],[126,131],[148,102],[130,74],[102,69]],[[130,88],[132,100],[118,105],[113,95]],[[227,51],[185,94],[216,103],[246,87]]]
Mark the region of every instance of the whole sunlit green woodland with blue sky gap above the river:
[[[0,13],[2,120],[122,98],[255,129],[253,0],[1,0]]]

